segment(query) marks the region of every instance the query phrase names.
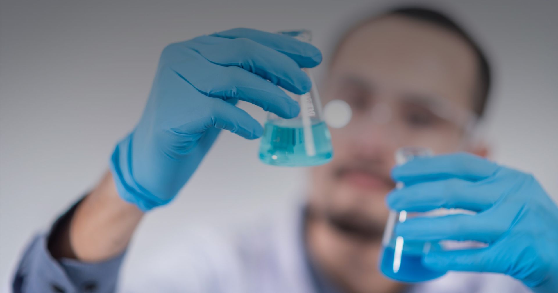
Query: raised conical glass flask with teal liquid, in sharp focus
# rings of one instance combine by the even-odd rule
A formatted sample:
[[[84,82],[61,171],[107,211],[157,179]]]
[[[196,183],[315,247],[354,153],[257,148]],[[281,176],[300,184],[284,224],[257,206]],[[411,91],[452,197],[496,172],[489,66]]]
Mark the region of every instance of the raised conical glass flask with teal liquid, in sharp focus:
[[[311,34],[306,29],[281,31],[281,34],[310,42]],[[269,113],[264,126],[259,159],[273,166],[316,166],[327,163],[333,157],[331,137],[323,120],[322,108],[316,83],[309,68],[302,68],[310,77],[312,88],[304,95],[287,92],[299,102],[299,116],[281,118]]]

